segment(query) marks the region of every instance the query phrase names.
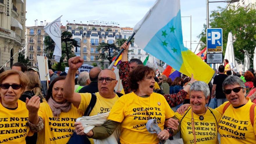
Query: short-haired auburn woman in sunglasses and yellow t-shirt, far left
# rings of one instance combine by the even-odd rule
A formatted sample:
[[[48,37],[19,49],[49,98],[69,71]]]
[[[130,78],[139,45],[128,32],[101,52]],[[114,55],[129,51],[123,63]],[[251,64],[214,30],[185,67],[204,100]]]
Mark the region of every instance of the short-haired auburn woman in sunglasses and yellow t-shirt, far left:
[[[26,136],[33,135],[27,125],[29,111],[19,100],[28,81],[23,72],[16,70],[7,70],[0,75],[0,143],[25,144]]]

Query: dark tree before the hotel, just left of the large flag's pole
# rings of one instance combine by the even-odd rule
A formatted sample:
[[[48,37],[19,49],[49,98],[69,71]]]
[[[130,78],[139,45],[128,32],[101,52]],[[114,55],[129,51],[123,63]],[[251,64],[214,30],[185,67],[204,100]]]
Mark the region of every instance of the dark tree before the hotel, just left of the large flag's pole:
[[[119,51],[119,48],[116,47],[114,43],[108,44],[108,43],[102,42],[97,47],[97,50],[101,52],[99,54],[99,59],[101,61],[104,61],[105,59],[107,59],[109,60],[109,64],[111,64],[113,57],[118,54],[117,51]],[[103,63],[101,63],[101,67],[104,67]]]

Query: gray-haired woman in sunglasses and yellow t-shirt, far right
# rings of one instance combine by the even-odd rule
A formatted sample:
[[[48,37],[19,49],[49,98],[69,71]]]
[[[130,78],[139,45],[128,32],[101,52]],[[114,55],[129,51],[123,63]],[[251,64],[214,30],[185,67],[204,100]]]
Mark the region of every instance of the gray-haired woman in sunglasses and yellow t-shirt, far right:
[[[255,144],[256,141],[256,105],[251,102],[254,97],[246,97],[246,86],[237,76],[228,76],[222,84],[228,102],[220,105],[216,110],[221,113],[218,133],[221,143]],[[188,105],[181,106],[186,110]]]

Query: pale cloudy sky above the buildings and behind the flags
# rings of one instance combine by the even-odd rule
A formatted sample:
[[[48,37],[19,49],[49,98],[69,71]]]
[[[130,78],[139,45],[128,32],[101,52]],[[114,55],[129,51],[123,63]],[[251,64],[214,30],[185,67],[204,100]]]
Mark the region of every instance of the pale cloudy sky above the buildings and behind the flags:
[[[199,39],[199,35],[206,24],[206,0],[180,0],[181,16],[192,16],[192,41]],[[134,27],[145,15],[155,0],[27,0],[26,26],[34,26],[35,19],[51,22],[61,17],[62,24],[66,20],[71,23],[90,20],[114,21],[120,27]],[[209,3],[209,10],[216,10],[217,6],[225,7],[226,3]],[[190,18],[182,18],[183,41],[190,41]],[[196,43],[196,42],[193,42]],[[186,42],[184,42],[186,45]],[[192,44],[194,51],[197,44]],[[187,42],[190,48],[190,42]]]

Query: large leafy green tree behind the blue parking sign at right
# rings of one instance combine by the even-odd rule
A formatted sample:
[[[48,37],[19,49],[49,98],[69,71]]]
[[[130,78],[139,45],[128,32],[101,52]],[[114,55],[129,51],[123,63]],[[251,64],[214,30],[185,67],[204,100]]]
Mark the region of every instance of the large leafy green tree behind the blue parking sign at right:
[[[254,48],[256,46],[256,10],[253,6],[250,10],[243,7],[238,8],[221,8],[212,11],[210,15],[210,27],[223,29],[223,53],[227,46],[228,33],[233,34],[234,53],[238,63],[244,61],[244,50],[250,54],[251,61],[253,58]],[[206,44],[206,25],[198,38]],[[202,45],[201,49],[205,45]],[[252,64],[252,63],[251,63]]]

